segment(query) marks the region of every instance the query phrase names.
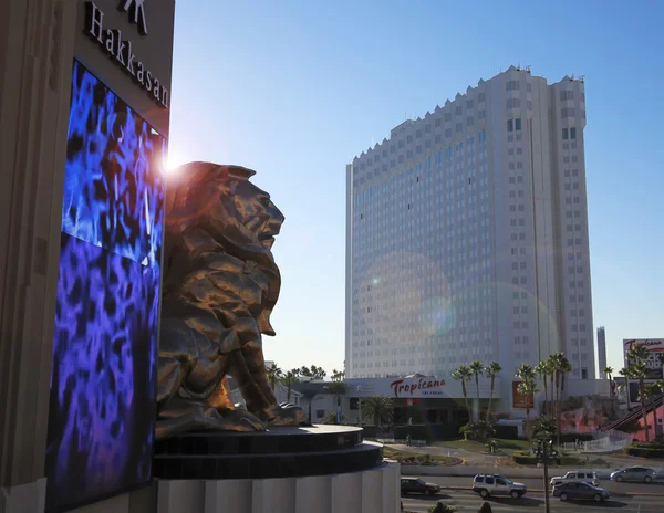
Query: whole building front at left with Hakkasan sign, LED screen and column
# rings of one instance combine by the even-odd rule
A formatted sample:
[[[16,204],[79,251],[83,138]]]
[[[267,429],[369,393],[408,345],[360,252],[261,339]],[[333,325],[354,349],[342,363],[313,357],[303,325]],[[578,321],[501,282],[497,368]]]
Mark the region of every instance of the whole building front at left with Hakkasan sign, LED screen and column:
[[[0,512],[151,511],[175,0],[0,3]]]

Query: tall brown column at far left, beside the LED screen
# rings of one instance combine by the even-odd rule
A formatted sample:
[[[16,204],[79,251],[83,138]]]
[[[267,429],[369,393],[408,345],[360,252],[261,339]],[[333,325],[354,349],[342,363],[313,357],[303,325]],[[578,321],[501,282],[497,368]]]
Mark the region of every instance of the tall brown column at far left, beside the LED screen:
[[[0,2],[0,512],[43,511],[76,0]]]

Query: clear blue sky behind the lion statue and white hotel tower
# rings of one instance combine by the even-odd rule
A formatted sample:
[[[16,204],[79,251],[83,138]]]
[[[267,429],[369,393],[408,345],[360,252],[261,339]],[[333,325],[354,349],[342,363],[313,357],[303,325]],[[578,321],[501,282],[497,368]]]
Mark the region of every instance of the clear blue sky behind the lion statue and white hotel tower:
[[[510,64],[585,76],[593,318],[664,337],[664,3],[177,2],[170,163],[239,164],[286,214],[264,353],[344,359],[345,165]]]

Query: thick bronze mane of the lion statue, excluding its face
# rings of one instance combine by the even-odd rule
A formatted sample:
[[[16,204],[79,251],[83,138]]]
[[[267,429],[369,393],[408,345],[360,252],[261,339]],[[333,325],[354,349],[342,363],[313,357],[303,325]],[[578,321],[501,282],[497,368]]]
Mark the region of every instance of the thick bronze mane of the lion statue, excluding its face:
[[[168,177],[163,318],[184,320],[220,353],[273,335],[281,278],[271,251],[238,219],[234,187],[255,171],[190,163]]]

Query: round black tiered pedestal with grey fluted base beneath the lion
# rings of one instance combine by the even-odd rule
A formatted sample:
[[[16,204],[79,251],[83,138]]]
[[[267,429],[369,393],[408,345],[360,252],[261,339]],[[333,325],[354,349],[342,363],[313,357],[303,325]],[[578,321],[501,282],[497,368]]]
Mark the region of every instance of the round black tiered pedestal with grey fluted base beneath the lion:
[[[400,465],[362,428],[189,433],[155,447],[158,513],[396,513]]]

